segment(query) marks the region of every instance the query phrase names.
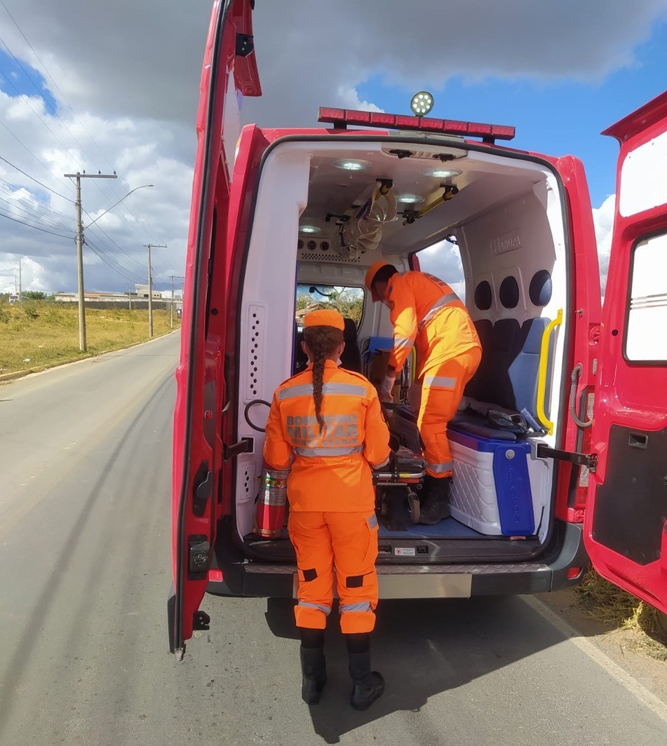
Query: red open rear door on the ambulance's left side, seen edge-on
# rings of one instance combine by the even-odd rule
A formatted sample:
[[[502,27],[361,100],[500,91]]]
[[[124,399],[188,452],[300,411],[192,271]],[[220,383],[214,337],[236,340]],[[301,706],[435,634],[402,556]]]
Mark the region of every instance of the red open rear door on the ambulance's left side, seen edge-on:
[[[172,477],[173,587],[167,604],[169,648],[182,657],[192,629],[206,624],[204,598],[215,540],[222,464],[220,410],[224,331],[208,332],[210,259],[227,237],[234,151],[242,95],[260,95],[252,39],[254,0],[215,0],[197,114],[184,284],[181,360],[176,371]]]

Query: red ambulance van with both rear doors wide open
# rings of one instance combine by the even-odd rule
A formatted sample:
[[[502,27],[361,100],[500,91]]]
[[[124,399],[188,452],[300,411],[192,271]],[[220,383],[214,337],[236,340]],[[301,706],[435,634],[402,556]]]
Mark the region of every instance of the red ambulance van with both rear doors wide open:
[[[483,358],[448,432],[452,517],[381,526],[381,598],[554,591],[590,561],[667,612],[667,93],[603,133],[621,144],[603,309],[577,158],[513,149],[510,126],[419,113],[322,108],[319,128],[241,127],[242,97],[261,94],[253,10],[216,1],[201,75],[172,652],[207,628],[207,592],[295,595],[286,533],[263,539],[254,514],[267,403],[303,364],[301,307],[351,301],[343,364],[368,375],[392,336],[368,267],[442,274],[454,246]]]

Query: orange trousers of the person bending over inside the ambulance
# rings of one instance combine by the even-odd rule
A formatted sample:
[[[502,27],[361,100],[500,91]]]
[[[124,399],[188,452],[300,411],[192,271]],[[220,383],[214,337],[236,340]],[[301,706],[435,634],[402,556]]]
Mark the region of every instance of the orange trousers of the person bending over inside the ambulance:
[[[454,462],[447,439],[447,423],[457,413],[463,389],[482,359],[478,347],[422,372],[422,400],[417,426],[424,443],[426,471],[432,477],[451,477]]]

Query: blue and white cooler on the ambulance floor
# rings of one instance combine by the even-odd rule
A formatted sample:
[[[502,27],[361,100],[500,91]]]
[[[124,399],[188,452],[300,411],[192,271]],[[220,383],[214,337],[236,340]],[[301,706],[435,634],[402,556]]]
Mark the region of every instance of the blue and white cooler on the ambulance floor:
[[[542,499],[530,486],[530,443],[451,429],[447,436],[454,458],[452,518],[488,536],[533,536]]]

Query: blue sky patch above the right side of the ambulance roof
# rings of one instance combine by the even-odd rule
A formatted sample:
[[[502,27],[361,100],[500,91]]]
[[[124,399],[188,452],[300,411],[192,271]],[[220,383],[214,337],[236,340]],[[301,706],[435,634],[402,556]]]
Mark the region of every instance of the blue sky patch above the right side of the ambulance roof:
[[[435,104],[429,116],[514,125],[516,137],[507,145],[580,158],[592,205],[599,207],[616,190],[619,153],[618,142],[600,133],[667,88],[667,23],[655,25],[651,38],[634,51],[632,66],[598,83],[453,78],[442,90],[430,90]],[[409,114],[414,92],[378,76],[357,86],[357,93],[385,111]]]

